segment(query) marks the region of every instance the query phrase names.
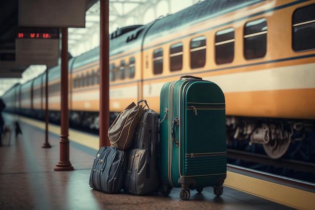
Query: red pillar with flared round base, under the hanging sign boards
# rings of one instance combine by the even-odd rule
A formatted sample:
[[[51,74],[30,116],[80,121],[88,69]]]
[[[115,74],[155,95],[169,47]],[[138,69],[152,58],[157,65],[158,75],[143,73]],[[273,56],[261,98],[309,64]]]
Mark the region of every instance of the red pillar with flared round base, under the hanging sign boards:
[[[60,161],[55,171],[70,171],[69,161],[69,118],[68,118],[68,28],[61,28],[61,110],[60,110]]]

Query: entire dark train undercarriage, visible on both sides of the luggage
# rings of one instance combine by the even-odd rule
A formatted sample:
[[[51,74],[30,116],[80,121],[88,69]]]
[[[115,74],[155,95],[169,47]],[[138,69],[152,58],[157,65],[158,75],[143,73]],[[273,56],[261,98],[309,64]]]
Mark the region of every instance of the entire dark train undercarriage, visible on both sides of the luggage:
[[[44,120],[43,110],[20,114]],[[118,114],[110,112],[110,124]],[[99,112],[69,111],[69,125],[75,129],[98,134],[99,119]],[[60,112],[49,111],[49,122],[60,124]],[[226,116],[225,124],[229,149],[263,153],[272,159],[315,159],[315,120]]]

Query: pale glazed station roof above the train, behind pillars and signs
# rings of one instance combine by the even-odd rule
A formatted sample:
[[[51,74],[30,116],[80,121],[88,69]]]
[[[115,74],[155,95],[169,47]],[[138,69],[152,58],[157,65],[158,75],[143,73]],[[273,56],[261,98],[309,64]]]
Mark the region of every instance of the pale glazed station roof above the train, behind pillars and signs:
[[[24,0],[0,0],[0,53],[2,54],[0,57],[0,96],[14,84],[23,84],[41,74],[45,67],[43,65],[21,66],[15,61],[3,61],[3,54],[16,54],[19,1]],[[85,52],[84,50],[93,49],[96,47],[95,44],[99,45],[91,41],[91,37],[100,33],[100,1],[108,0],[86,1],[86,27],[68,28],[68,50],[72,56],[80,55]],[[181,0],[109,0],[109,32],[113,32],[117,27],[153,21],[154,19],[144,19],[147,11],[151,12],[150,15],[156,16],[153,18],[158,18],[161,15],[179,11],[181,7],[184,9],[183,7],[187,4],[196,4],[198,1],[200,0],[185,0],[185,4],[178,5]],[[159,9],[160,12],[157,12]],[[84,45],[84,47],[80,48],[79,45]]]

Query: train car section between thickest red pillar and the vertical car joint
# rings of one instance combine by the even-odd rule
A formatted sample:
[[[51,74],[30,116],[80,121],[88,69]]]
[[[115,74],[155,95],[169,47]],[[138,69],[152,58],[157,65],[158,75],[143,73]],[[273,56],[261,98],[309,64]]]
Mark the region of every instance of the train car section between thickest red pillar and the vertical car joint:
[[[110,104],[120,112],[142,98],[142,41],[151,24],[118,29],[110,37]]]

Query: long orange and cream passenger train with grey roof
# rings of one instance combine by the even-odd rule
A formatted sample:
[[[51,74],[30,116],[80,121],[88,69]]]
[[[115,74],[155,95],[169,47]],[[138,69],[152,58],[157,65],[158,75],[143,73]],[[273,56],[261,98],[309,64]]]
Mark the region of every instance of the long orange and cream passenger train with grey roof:
[[[141,99],[158,112],[162,86],[192,75],[222,89],[228,145],[260,145],[273,159],[306,138],[313,146],[314,37],[313,0],[205,0],[118,28],[109,37],[110,120]],[[68,60],[70,124],[100,129],[100,59],[97,47]],[[47,71],[49,118],[58,121],[60,65]],[[45,80],[13,86],[6,111],[43,118]]]

